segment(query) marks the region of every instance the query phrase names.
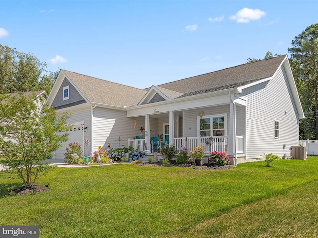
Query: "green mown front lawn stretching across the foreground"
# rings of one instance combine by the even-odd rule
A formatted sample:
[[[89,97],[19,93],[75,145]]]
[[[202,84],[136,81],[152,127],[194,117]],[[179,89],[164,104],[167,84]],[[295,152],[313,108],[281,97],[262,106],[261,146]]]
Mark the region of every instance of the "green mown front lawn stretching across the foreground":
[[[29,196],[6,196],[22,184],[0,172],[0,224],[39,225],[40,238],[318,236],[318,157],[263,165],[58,168]]]

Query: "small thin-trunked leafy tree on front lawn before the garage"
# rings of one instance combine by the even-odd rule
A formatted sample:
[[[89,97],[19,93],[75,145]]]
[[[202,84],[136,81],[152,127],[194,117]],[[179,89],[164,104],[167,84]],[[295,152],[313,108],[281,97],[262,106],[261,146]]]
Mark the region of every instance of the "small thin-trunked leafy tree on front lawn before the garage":
[[[44,98],[18,94],[0,95],[0,157],[22,179],[25,187],[33,186],[49,165],[43,161],[66,141],[68,113],[56,117],[55,109],[43,105]],[[40,116],[40,112],[43,114]]]

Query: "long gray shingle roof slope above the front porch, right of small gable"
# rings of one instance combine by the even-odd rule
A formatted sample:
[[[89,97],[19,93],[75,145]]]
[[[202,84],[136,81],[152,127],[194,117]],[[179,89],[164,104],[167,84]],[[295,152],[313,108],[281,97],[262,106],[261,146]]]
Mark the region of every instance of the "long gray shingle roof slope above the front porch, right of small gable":
[[[181,92],[181,97],[239,87],[273,76],[285,57],[259,60],[158,86]]]

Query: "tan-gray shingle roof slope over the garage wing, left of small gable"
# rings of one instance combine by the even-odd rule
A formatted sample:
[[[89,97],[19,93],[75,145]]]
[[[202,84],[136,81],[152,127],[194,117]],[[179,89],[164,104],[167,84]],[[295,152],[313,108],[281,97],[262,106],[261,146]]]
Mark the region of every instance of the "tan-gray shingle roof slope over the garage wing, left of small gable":
[[[137,104],[147,91],[113,83],[107,80],[86,76],[62,69],[79,91],[92,103],[113,106]]]

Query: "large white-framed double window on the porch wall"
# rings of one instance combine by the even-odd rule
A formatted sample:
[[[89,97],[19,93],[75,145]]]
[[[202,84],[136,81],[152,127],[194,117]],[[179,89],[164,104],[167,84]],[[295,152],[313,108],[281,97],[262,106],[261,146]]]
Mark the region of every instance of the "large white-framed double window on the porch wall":
[[[225,136],[226,114],[199,118],[200,136]]]

